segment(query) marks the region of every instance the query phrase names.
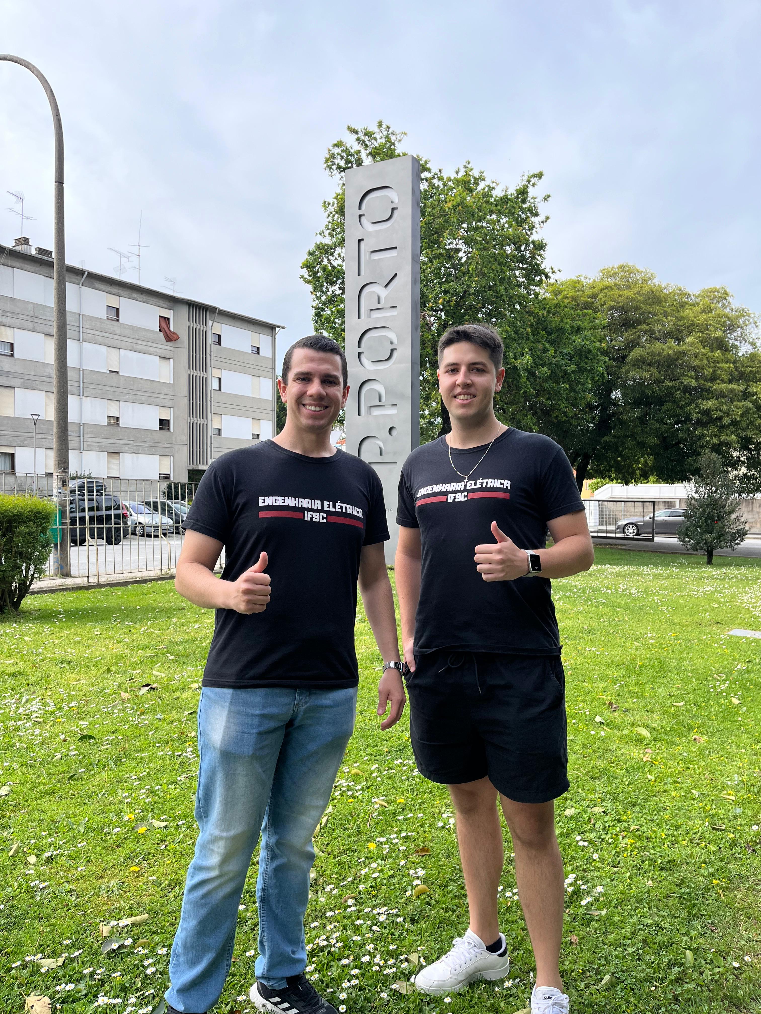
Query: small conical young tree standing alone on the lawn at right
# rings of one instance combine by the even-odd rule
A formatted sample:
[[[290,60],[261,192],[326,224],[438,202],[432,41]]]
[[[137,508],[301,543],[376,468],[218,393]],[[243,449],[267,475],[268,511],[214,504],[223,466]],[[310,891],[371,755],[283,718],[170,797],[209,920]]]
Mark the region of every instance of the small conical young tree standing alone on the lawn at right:
[[[677,538],[688,550],[704,553],[706,564],[712,564],[716,550],[735,550],[741,545],[748,525],[740,516],[737,483],[718,454],[700,455],[692,484]]]

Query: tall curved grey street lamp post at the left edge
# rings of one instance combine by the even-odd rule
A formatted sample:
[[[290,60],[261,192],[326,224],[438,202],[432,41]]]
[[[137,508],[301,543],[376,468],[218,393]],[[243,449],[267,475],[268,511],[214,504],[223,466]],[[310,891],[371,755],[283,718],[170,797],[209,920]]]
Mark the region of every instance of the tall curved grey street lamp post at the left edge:
[[[66,243],[64,239],[64,152],[63,127],[58,102],[45,75],[28,60],[0,53],[0,60],[18,64],[31,71],[40,81],[53,114],[55,148],[55,187],[53,201],[53,472],[54,485],[61,507],[61,541],[58,555],[60,577],[69,576],[69,367],[66,354]],[[37,433],[37,428],[34,430]],[[37,467],[37,461],[34,462]]]

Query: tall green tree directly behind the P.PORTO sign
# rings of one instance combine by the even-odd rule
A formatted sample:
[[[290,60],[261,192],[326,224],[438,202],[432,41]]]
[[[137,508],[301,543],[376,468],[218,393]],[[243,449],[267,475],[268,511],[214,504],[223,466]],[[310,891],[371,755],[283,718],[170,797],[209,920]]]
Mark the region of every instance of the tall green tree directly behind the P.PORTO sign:
[[[406,154],[404,134],[383,121],[347,128],[350,141],[331,145],[328,172]],[[566,307],[545,293],[550,278],[536,189],[540,172],[513,189],[486,178],[469,162],[447,175],[421,158],[420,430],[421,440],[448,430],[438,396],[436,346],[443,332],[478,321],[505,342],[507,381],[496,403],[500,418],[542,428],[558,439],[586,407],[602,359],[594,313]],[[344,344],[344,190],[323,205],[326,216],[302,264],[316,331]],[[561,440],[562,442],[562,440]]]

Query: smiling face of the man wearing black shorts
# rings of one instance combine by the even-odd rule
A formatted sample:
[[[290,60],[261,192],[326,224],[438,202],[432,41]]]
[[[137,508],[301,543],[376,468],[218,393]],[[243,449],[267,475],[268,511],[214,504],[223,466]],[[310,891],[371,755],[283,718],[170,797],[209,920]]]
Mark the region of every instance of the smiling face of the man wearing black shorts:
[[[438,390],[451,416],[463,423],[480,422],[491,412],[504,369],[495,372],[488,353],[473,342],[456,342],[441,354]]]

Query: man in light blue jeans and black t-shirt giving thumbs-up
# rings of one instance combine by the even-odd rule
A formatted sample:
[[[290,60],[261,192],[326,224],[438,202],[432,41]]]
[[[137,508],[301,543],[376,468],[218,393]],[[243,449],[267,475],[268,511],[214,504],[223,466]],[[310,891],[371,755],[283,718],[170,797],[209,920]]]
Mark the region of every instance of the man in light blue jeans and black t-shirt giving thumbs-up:
[[[205,1014],[222,992],[260,830],[251,999],[279,1014],[335,1014],[304,975],[303,916],[312,837],[354,727],[357,583],[385,662],[382,729],[405,703],[380,481],[330,442],[349,392],[340,346],[296,342],[278,388],[282,432],[209,466],[178,561],[181,595],[216,609],[198,711],[200,835],[166,993],[183,1014]]]

